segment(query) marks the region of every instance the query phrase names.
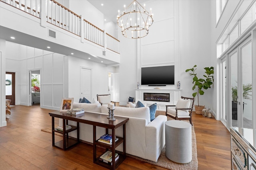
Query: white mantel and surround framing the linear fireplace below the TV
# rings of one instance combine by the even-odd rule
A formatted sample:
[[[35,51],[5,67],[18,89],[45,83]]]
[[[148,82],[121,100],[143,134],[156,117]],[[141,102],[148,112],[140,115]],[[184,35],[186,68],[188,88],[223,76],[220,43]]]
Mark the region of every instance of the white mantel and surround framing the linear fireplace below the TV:
[[[166,105],[176,105],[180,98],[181,90],[182,89],[135,89],[135,99],[136,102],[140,101],[142,103],[146,103],[147,106],[157,103],[157,110],[165,111]],[[144,93],[169,93],[170,102],[144,101]]]

